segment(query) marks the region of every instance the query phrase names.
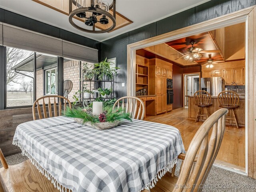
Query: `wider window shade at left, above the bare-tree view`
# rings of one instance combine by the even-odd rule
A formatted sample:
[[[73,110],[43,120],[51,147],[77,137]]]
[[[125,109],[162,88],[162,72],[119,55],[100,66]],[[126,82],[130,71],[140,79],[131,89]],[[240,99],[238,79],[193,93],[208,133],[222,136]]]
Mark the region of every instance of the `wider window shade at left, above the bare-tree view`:
[[[62,39],[3,23],[3,45],[62,56]]]

